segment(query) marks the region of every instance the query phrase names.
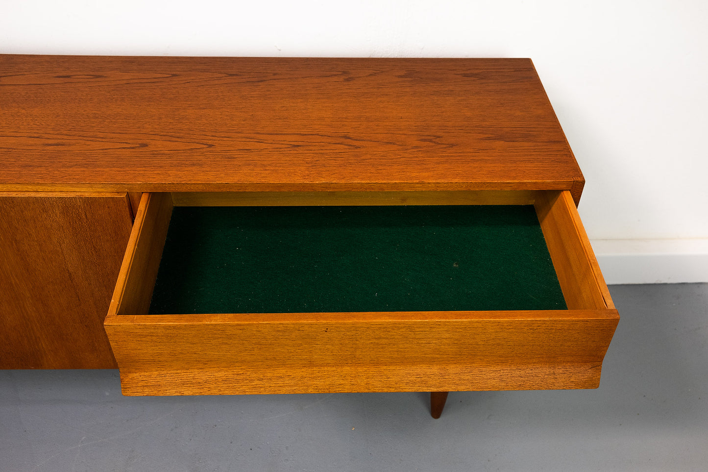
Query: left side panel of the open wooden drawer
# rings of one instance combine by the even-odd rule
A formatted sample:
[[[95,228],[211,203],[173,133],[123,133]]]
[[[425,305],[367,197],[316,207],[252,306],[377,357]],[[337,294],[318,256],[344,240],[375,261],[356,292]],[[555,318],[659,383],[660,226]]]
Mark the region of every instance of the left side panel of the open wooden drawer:
[[[143,193],[108,315],[147,313],[172,216],[169,193]]]

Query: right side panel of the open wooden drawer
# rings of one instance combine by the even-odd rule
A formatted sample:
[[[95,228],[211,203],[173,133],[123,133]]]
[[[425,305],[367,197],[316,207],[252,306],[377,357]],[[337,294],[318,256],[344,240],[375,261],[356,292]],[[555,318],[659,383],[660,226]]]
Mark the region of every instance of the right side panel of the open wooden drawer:
[[[615,308],[570,192],[539,192],[535,206],[568,308]]]

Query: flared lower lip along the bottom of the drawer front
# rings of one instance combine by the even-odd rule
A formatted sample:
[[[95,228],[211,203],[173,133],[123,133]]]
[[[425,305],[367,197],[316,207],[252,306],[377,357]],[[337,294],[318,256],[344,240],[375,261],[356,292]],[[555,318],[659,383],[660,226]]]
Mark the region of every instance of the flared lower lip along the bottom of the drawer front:
[[[236,395],[452,390],[596,388],[601,364],[519,365],[405,364],[291,366],[252,369],[120,369],[123,395]],[[494,378],[498,378],[494,381]]]

